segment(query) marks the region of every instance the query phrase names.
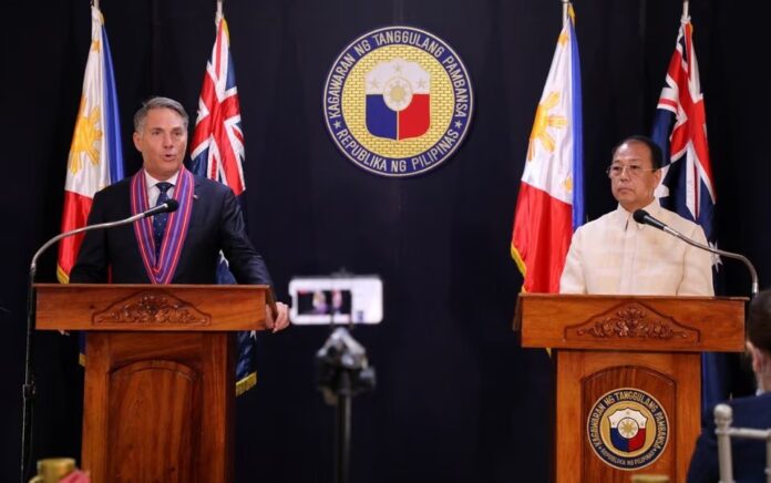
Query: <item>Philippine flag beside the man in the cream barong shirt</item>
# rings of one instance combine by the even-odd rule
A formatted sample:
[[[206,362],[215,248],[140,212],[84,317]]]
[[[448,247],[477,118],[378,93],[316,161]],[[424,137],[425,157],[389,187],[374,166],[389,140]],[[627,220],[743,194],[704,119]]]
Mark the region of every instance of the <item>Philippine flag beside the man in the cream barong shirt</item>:
[[[580,66],[572,3],[530,135],[514,212],[511,251],[522,291],[556,294],[573,232],[584,224]]]

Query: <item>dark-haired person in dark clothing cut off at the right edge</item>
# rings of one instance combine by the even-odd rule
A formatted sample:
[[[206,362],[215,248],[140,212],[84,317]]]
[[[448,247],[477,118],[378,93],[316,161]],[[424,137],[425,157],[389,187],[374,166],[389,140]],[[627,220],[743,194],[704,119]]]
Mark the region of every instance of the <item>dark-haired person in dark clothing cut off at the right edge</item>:
[[[732,427],[771,428],[771,290],[761,291],[750,305],[747,321],[747,351],[758,380],[758,395],[728,401],[733,410]],[[767,392],[769,391],[769,392]],[[696,442],[688,470],[689,483],[719,480],[718,443],[712,411],[705,414],[705,428]],[[765,442],[731,439],[733,477],[737,482],[765,482]]]

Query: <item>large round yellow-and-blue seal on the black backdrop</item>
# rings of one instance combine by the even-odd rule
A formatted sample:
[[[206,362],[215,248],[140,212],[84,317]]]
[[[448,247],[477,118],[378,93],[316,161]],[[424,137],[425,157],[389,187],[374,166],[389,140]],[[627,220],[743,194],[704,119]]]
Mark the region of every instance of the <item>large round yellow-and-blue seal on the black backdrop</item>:
[[[473,105],[463,62],[411,27],[387,27],[351,42],[329,70],[323,115],[335,144],[383,176],[433,169],[463,141]]]

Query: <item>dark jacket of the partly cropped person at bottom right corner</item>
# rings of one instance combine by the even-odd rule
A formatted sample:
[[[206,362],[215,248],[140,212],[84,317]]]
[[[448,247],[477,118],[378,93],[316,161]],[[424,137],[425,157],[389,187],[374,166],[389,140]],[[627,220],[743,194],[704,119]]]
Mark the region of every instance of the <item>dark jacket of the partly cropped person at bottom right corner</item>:
[[[771,428],[771,392],[749,398],[738,398],[728,403],[733,409],[732,427]],[[693,458],[688,469],[688,483],[717,482],[718,440],[715,435],[715,417],[712,411],[705,414],[705,425],[696,442]],[[731,459],[733,479],[737,483],[765,482],[765,442],[758,440],[731,438]]]

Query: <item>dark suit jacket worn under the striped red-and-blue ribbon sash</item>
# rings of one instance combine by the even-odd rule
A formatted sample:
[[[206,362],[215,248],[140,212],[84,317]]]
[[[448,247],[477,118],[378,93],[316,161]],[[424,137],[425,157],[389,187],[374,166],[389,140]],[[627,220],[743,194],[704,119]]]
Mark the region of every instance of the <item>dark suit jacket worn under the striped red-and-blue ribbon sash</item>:
[[[191,223],[173,284],[215,284],[222,249],[239,284],[271,284],[263,258],[246,236],[244,219],[233,191],[194,176],[195,197]],[[89,224],[127,218],[131,213],[131,177],[94,196]],[[103,284],[107,270],[115,284],[148,284],[133,224],[89,232],[70,274],[73,284]]]

